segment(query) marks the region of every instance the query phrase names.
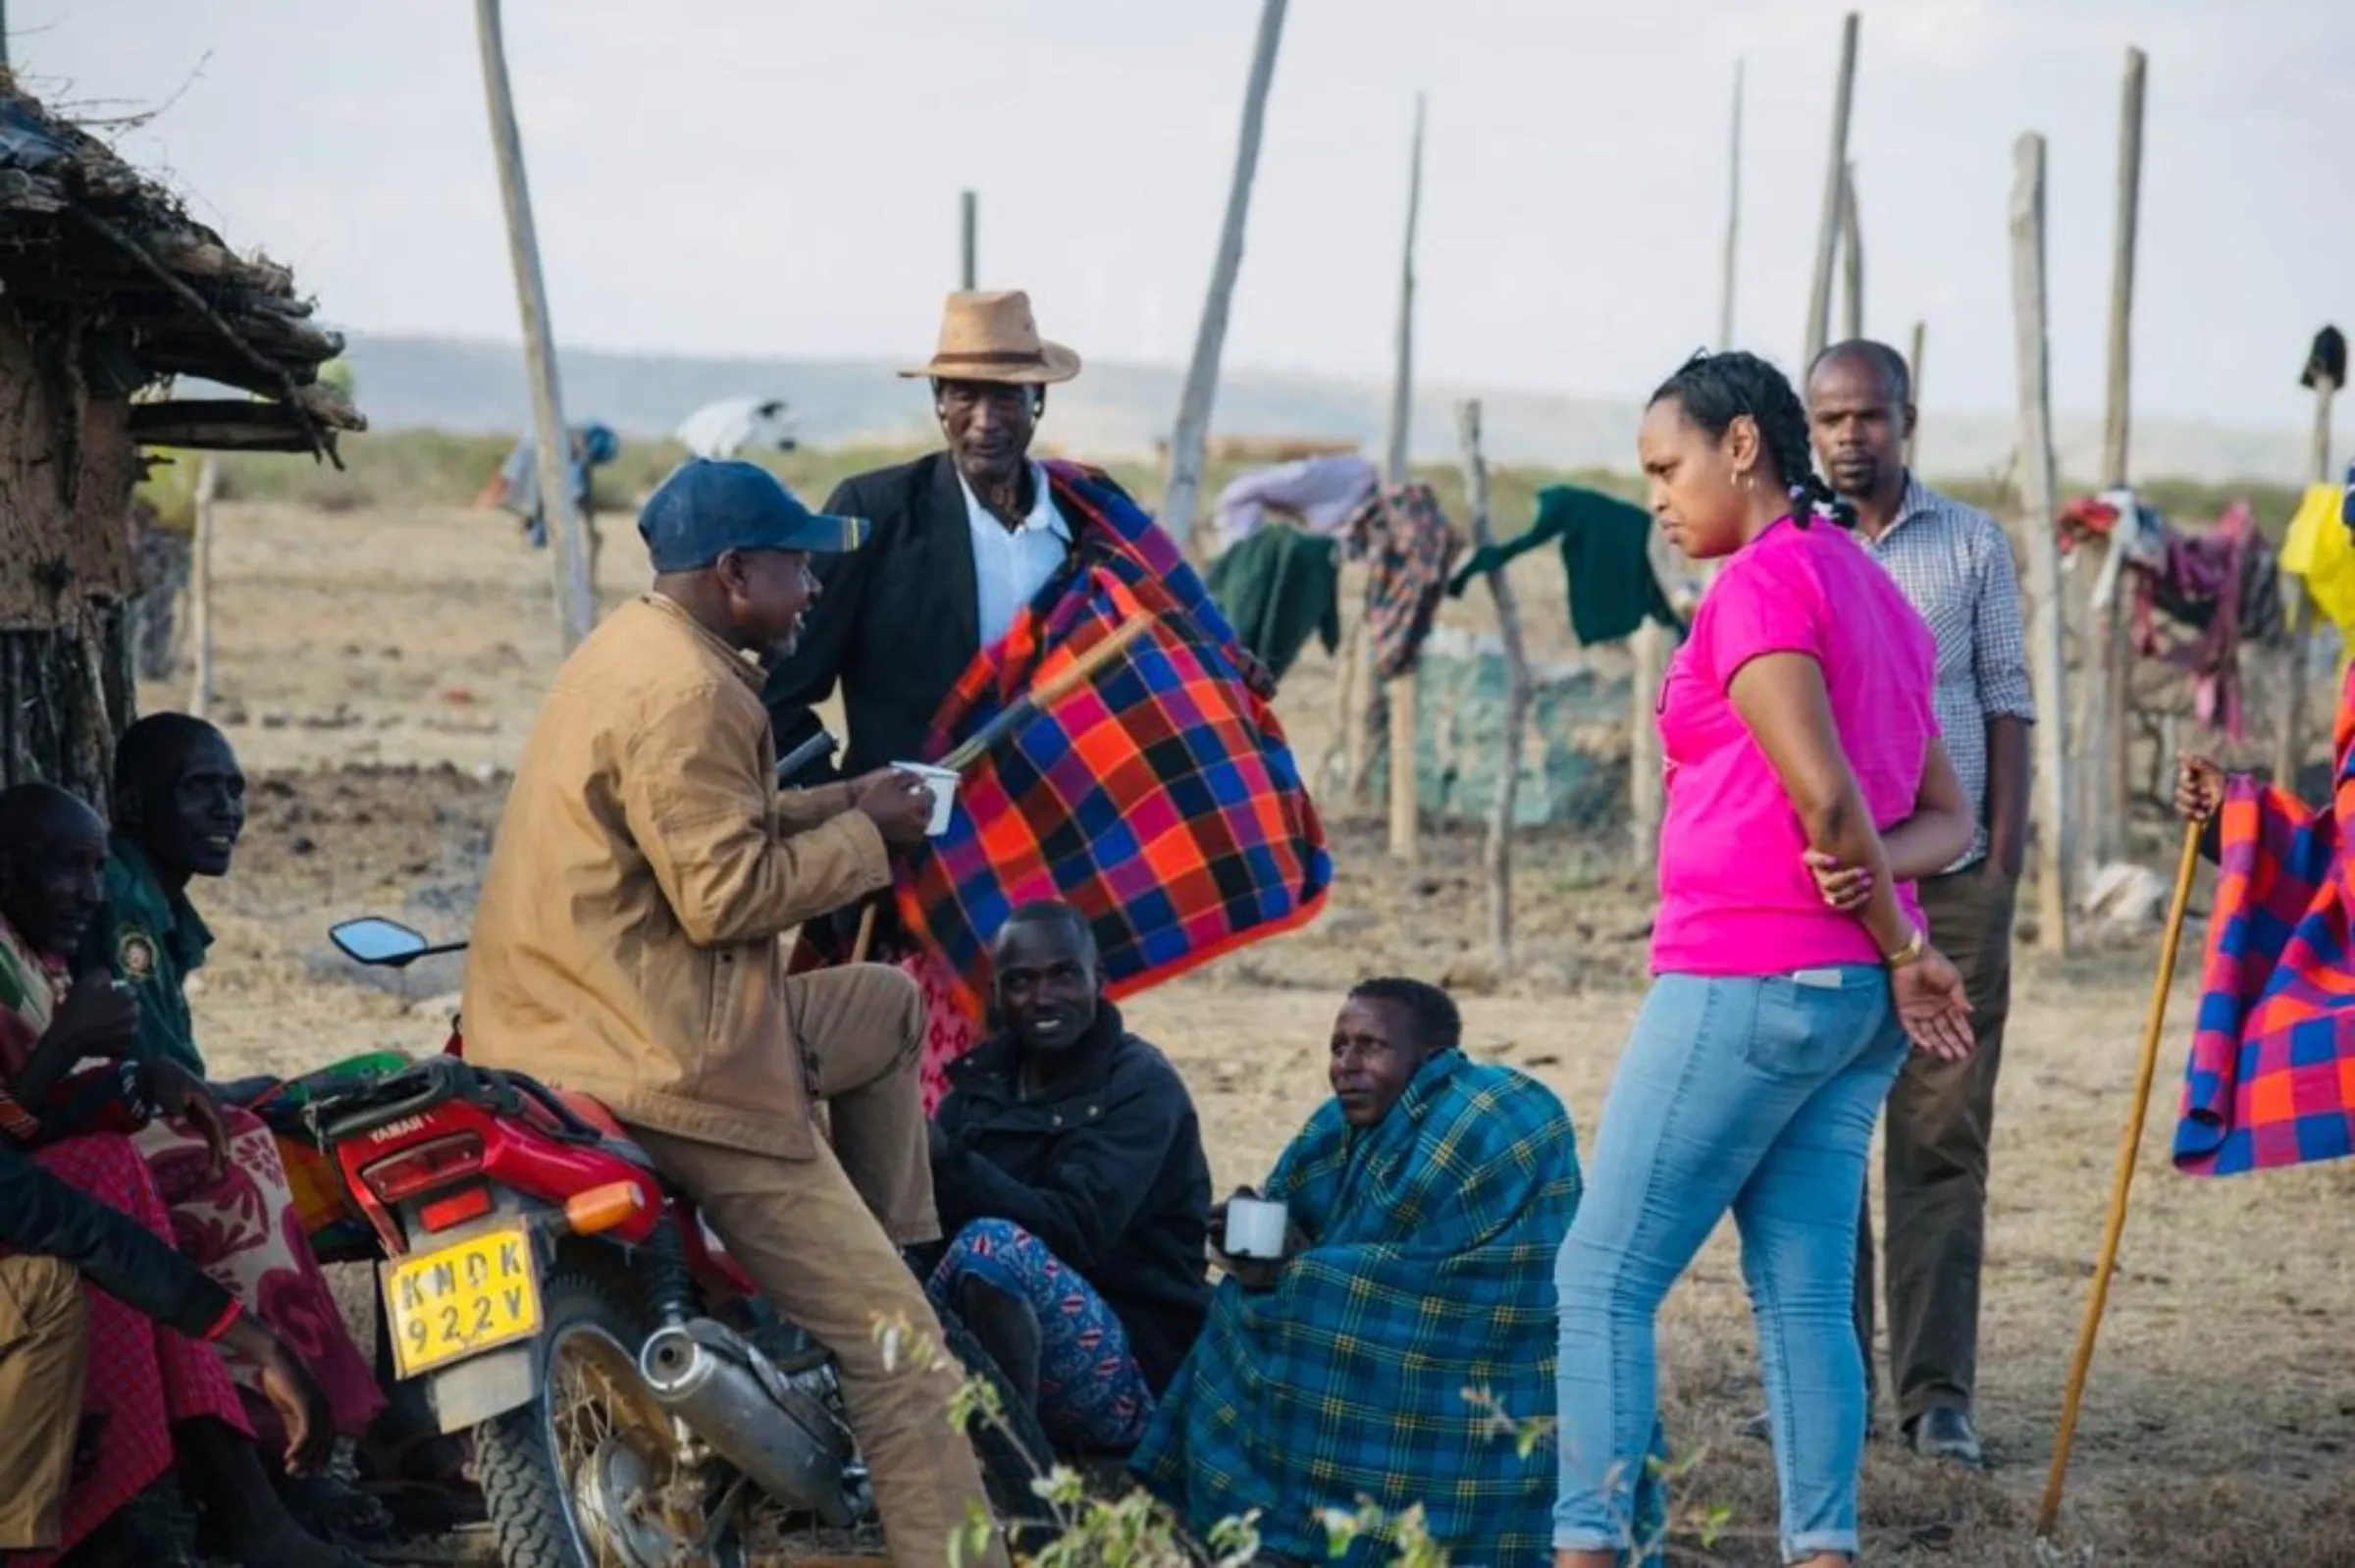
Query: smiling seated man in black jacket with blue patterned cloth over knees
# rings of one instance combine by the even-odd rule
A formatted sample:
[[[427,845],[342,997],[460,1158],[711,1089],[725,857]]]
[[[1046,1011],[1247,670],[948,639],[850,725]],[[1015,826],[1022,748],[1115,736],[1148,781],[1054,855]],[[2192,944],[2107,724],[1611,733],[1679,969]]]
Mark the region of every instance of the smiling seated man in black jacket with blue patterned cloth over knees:
[[[1076,909],[1017,909],[994,963],[996,1034],[949,1069],[933,1123],[933,1297],[1057,1448],[1126,1453],[1210,1304],[1201,1125],[1102,998]]]

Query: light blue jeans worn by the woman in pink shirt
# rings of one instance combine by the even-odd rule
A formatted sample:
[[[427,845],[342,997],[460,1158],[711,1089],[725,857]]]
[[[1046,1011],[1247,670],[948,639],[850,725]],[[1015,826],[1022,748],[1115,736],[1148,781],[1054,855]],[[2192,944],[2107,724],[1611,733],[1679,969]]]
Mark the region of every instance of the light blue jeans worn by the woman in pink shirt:
[[[1557,1547],[1637,1544],[1627,1519],[1653,1429],[1653,1318],[1731,1208],[1783,1481],[1783,1561],[1856,1552],[1856,1205],[1872,1118],[1903,1062],[1879,965],[1653,984],[1554,1264]]]

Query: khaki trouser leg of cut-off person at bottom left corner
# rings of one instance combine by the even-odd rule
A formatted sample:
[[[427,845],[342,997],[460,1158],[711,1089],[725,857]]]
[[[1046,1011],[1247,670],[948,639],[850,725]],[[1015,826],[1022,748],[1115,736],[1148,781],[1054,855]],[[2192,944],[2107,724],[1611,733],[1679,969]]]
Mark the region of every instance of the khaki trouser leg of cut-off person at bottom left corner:
[[[57,1544],[87,1366],[82,1276],[54,1257],[0,1257],[0,1552]]]

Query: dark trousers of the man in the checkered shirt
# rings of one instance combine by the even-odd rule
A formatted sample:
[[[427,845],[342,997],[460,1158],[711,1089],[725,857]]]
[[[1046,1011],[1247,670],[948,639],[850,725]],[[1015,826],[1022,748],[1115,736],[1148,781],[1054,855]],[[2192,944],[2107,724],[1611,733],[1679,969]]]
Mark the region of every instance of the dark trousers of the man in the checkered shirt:
[[[1971,1408],[1978,1377],[1978,1269],[1988,1250],[1988,1137],[1995,1071],[2011,1012],[2014,883],[1988,864],[1922,883],[1929,939],[1971,994],[1969,1062],[1910,1055],[1889,1090],[1886,1205],[1889,1380],[1898,1420],[1933,1406]],[[1872,1375],[1872,1182],[1856,1215],[1856,1337]]]

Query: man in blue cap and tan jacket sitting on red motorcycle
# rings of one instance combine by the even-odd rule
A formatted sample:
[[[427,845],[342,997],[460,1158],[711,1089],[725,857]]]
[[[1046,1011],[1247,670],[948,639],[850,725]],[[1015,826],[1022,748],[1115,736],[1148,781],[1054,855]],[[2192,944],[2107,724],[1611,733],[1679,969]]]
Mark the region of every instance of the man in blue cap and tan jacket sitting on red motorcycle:
[[[695,459],[638,518],[655,589],[565,659],[483,878],[466,1055],[596,1095],[841,1366],[897,1563],[937,1568],[982,1479],[956,1375],[890,1366],[874,1323],[937,1321],[900,1245],[940,1238],[916,1081],[923,998],[883,965],[787,977],[784,937],[890,885],[930,791],[871,772],[775,786],[761,659],[789,652],[812,553],[864,523],[765,469]],[[831,1142],[812,1099],[827,1099]],[[996,1549],[994,1549],[996,1552]],[[1003,1552],[994,1556],[1003,1561]]]

